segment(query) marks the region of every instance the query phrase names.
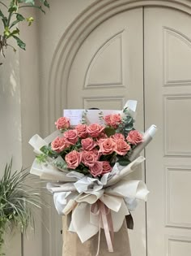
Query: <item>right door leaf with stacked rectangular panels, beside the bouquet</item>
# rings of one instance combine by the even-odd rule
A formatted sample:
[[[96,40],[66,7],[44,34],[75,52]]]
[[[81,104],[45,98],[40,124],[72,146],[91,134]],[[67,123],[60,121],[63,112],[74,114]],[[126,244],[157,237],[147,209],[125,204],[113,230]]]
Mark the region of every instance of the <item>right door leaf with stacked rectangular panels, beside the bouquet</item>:
[[[191,16],[145,8],[148,256],[191,254]]]

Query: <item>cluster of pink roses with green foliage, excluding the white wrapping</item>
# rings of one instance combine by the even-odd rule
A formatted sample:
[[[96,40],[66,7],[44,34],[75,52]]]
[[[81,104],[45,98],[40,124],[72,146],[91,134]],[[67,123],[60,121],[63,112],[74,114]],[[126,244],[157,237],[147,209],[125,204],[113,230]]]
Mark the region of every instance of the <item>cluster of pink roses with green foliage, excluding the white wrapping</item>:
[[[129,115],[123,119],[120,114],[102,118],[104,125],[79,124],[74,128],[67,117],[57,119],[61,135],[44,145],[36,158],[46,161],[60,156],[62,162],[55,162],[56,167],[93,177],[112,171],[115,163],[126,166],[132,150],[142,142],[142,134],[134,129],[134,119]]]

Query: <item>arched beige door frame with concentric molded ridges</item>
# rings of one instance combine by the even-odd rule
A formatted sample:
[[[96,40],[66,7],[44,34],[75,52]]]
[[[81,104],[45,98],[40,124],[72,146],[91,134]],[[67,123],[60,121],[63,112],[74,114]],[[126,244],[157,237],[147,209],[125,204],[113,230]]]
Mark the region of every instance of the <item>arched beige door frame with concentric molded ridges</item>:
[[[62,109],[67,107],[67,85],[70,67],[83,41],[92,30],[108,20],[113,15],[138,7],[170,7],[191,15],[191,2],[187,0],[98,0],[92,3],[73,21],[63,33],[54,50],[49,71],[49,89],[44,92],[45,109],[49,115],[41,125],[47,134],[54,130],[54,120],[62,115]],[[62,95],[62,97],[61,97]],[[60,237],[55,228],[60,228],[61,220],[57,218],[56,211],[49,212],[49,245],[51,253],[57,252]],[[51,225],[51,223],[54,223]]]

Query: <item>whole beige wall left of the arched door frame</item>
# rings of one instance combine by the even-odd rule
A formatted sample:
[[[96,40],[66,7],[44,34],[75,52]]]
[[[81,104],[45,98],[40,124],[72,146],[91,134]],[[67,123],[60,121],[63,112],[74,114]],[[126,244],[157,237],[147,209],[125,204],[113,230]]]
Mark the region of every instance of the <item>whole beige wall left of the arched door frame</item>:
[[[92,2],[52,0],[49,1],[50,10],[46,11],[46,15],[32,11],[32,8],[26,11],[27,15],[35,16],[36,20],[32,27],[27,24],[19,27],[20,37],[27,44],[26,51],[17,49],[15,54],[7,49],[6,59],[3,59],[3,66],[0,67],[0,176],[11,157],[14,169],[31,165],[34,155],[28,140],[35,133],[44,136],[47,131],[49,113],[45,109],[45,101],[54,50],[67,26]],[[15,41],[13,45],[16,46]],[[28,238],[24,238],[22,256],[60,255],[52,245],[43,246],[42,237],[45,237],[46,244],[49,243],[49,234],[45,228],[43,232],[41,234],[41,223],[37,220],[35,236],[29,230]],[[7,255],[21,255],[20,235],[15,234],[11,241],[7,240],[6,247]]]

